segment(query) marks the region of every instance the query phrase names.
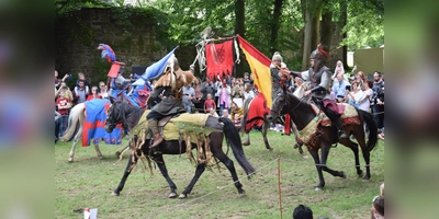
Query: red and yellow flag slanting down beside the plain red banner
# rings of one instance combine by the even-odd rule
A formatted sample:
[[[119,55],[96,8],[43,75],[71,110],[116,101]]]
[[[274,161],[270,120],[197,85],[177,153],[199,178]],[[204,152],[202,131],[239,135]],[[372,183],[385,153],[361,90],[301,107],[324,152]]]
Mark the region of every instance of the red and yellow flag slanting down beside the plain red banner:
[[[239,35],[238,41],[240,48],[246,55],[251,73],[254,73],[254,82],[257,85],[258,92],[262,93],[267,101],[267,106],[271,108],[271,60]]]

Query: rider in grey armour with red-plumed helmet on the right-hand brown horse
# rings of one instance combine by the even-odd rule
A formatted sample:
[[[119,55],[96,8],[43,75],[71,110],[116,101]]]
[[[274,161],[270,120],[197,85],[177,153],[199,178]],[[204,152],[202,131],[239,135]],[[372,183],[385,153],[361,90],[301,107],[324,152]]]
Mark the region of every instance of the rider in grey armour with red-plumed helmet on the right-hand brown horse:
[[[319,108],[329,117],[330,122],[335,125],[338,132],[338,138],[348,138],[346,135],[339,113],[338,106],[334,100],[330,99],[329,85],[330,85],[330,71],[329,68],[324,65],[325,58],[329,57],[328,53],[325,51],[319,44],[317,49],[311,54],[311,68],[304,72],[290,73],[294,77],[300,77],[305,81],[311,81],[311,89],[304,92],[305,96],[312,94],[313,101],[319,106]]]

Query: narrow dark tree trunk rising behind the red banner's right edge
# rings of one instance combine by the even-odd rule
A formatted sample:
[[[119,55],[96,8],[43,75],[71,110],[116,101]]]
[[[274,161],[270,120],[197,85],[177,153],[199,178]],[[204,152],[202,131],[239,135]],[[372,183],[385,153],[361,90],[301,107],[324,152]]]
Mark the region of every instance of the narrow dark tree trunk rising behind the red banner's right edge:
[[[235,23],[235,34],[239,34],[243,38],[245,37],[246,34],[246,25],[245,25],[245,0],[236,0],[235,2],[235,18],[236,18],[236,23]],[[235,49],[235,47],[234,47]],[[235,57],[235,53],[234,53]],[[236,58],[236,57],[235,57]],[[243,59],[243,57],[240,57]],[[235,65],[234,68],[234,77],[244,77],[244,62],[240,61],[240,64]]]

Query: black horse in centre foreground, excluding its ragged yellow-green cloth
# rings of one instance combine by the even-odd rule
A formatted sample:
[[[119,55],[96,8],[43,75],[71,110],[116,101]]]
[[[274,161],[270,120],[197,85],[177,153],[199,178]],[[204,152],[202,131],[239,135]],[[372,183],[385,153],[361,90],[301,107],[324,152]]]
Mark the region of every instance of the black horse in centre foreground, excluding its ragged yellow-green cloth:
[[[142,115],[142,110],[131,106],[127,103],[123,101],[116,101],[114,102],[109,111],[108,111],[108,118],[105,122],[105,129],[106,131],[112,131],[114,128],[115,124],[124,123],[130,126],[135,126],[140,117],[146,117],[146,115]],[[146,113],[145,113],[146,114]],[[140,125],[140,124],[139,124]],[[169,125],[169,124],[168,124]],[[239,178],[236,174],[234,162],[224,153],[222,149],[222,143],[223,143],[223,132],[232,147],[232,151],[240,164],[240,166],[244,169],[246,172],[248,178],[250,178],[250,175],[255,173],[255,169],[252,165],[248,162],[244,150],[241,146],[241,141],[239,138],[238,131],[235,129],[235,126],[233,122],[228,118],[216,118],[209,116],[207,120],[205,123],[205,128],[212,128],[215,131],[211,132],[209,136],[209,146],[206,147],[206,143],[203,143],[202,146],[196,145],[196,143],[191,143],[189,147],[191,149],[201,147],[203,148],[203,151],[206,151],[209,149],[212,151],[212,154],[214,158],[219,160],[230,172],[232,178],[235,183],[235,187],[238,189],[238,193],[240,195],[245,194],[245,191],[241,188],[243,185],[239,182]],[[137,128],[137,127],[136,127]],[[136,136],[133,136],[136,138]],[[119,186],[113,191],[113,195],[119,196],[121,191],[124,188],[125,182],[131,174],[132,168],[137,163],[138,155],[140,154],[146,154],[147,158],[151,158],[155,163],[158,165],[158,169],[160,170],[161,174],[168,182],[168,185],[170,187],[170,194],[169,198],[176,198],[177,197],[177,186],[170,178],[168,174],[168,170],[165,164],[165,160],[162,154],[181,154],[187,152],[188,148],[184,146],[188,146],[184,140],[167,140],[165,139],[160,145],[157,147],[150,149],[149,148],[149,142],[150,142],[150,136],[146,136],[147,139],[144,139],[142,141],[140,149],[138,147],[133,146],[134,143],[131,145],[131,155],[128,159],[128,163],[126,165],[126,169],[124,171],[123,177],[119,184]],[[179,142],[180,141],[180,142]],[[189,150],[191,150],[189,149]],[[154,152],[154,151],[156,152]],[[157,150],[159,152],[157,152]],[[201,174],[204,172],[206,168],[206,163],[199,162],[196,164],[196,170],[195,170],[195,175],[193,176],[192,181],[190,184],[184,188],[184,191],[179,195],[179,198],[187,198],[188,194],[191,193],[193,186],[195,185],[196,181],[201,176]]]

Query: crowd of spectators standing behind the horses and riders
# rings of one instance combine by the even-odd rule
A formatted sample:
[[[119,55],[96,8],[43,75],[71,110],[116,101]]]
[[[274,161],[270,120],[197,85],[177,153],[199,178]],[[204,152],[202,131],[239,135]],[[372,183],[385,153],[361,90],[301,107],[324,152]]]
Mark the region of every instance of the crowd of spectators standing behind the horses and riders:
[[[281,62],[281,67],[286,68],[286,65]],[[331,96],[337,102],[350,103],[360,110],[370,111],[379,128],[379,138],[384,140],[384,80],[382,74],[375,71],[373,72],[373,80],[370,80],[365,78],[362,71],[354,73],[356,70],[357,66],[352,69],[352,72],[346,72],[342,62],[337,61],[331,77]],[[67,128],[69,108],[75,104],[92,99],[109,99],[111,94],[103,81],[100,81],[97,85],[90,84],[81,72],[78,73],[75,87],[70,89],[66,85],[66,80],[69,78],[70,76],[66,73],[63,79],[59,79],[58,72],[55,70],[56,108],[61,115],[57,124],[59,136]],[[150,82],[153,89],[154,83],[155,81]],[[292,76],[286,79],[285,83],[288,89],[299,97],[308,87],[300,78]],[[244,102],[257,95],[252,76],[248,72],[244,73],[244,78],[230,77],[222,81],[212,81],[209,78],[202,81],[196,78],[191,84],[184,87],[182,92],[182,103],[188,113],[224,115],[232,120],[236,120],[235,114],[238,114],[239,119],[243,118]],[[280,131],[283,128],[278,124],[271,129]]]

